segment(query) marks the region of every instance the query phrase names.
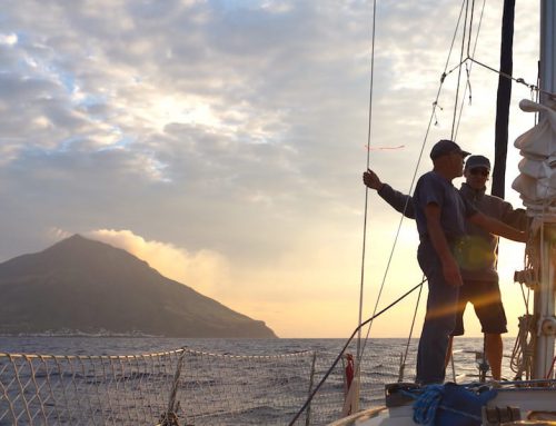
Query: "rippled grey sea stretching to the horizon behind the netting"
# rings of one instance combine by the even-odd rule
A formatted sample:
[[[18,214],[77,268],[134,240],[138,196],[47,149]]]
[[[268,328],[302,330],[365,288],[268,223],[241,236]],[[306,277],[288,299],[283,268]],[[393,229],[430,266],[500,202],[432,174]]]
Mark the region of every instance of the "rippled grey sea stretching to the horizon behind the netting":
[[[515,338],[504,338],[503,376],[508,379],[515,375],[509,366],[515,343]],[[385,383],[398,382],[400,371],[404,382],[414,380],[417,339],[377,338],[359,345],[364,351],[363,406],[384,404]],[[317,386],[320,388],[309,410],[296,425],[325,425],[341,416],[345,371],[349,367],[348,359],[338,358],[344,346],[346,339],[320,338],[0,337],[0,384],[9,389],[3,397],[0,393],[0,426],[155,425],[171,398],[178,364],[182,368],[175,412],[181,426],[287,425]],[[172,351],[181,348],[187,356],[178,359],[181,353]],[[477,382],[481,350],[483,338],[456,338],[447,380]],[[346,351],[355,354],[357,343],[348,345]],[[142,357],[145,354],[159,355]],[[58,357],[50,359],[49,355]],[[330,368],[335,360],[336,367]],[[86,407],[88,414],[64,417],[63,408],[56,407],[61,403],[52,396],[57,388],[63,392],[66,405],[76,398],[69,405]],[[88,393],[91,397],[86,398]],[[126,394],[132,396],[123,397]],[[158,403],[149,399],[153,394],[160,394]],[[34,412],[33,404],[38,407]],[[97,407],[99,404],[105,406]],[[147,406],[152,413],[135,413]]]

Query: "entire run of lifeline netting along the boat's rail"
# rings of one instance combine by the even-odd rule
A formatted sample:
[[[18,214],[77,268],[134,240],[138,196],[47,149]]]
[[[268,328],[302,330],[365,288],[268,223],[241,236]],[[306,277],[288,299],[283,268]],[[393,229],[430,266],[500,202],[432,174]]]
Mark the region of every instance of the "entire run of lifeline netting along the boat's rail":
[[[322,377],[330,355],[186,348],[135,356],[0,354],[0,426],[285,425]],[[380,400],[381,384],[396,380],[397,363],[384,356],[364,363],[363,371],[373,371],[363,376],[364,404]],[[297,424],[339,418],[344,380],[338,365]]]

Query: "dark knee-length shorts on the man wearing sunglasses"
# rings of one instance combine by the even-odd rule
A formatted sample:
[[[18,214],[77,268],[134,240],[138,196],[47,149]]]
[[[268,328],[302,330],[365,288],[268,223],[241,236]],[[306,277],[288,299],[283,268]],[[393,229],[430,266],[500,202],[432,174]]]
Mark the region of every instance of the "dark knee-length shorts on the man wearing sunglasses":
[[[456,327],[451,336],[461,336],[464,334],[464,311],[468,301],[475,308],[483,333],[503,334],[508,331],[498,283],[465,280],[464,285],[459,287]]]

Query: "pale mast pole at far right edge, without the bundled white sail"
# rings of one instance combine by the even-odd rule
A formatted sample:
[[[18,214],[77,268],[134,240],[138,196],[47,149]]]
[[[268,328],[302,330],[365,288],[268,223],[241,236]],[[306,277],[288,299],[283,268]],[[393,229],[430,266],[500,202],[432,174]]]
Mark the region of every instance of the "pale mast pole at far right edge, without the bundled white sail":
[[[556,92],[556,61],[554,49],[556,47],[556,3],[553,0],[540,1],[540,103],[554,108],[554,99],[546,93]],[[539,123],[547,120],[548,110],[539,111]],[[546,135],[545,143],[556,140],[554,128],[552,135]],[[554,143],[554,142],[553,142]],[[546,153],[553,155],[556,147],[547,147]],[[547,159],[548,161],[548,159]],[[556,170],[548,168],[552,172]],[[548,200],[546,200],[548,202]],[[546,206],[545,206],[546,207]],[[545,378],[552,371],[554,359],[554,343],[556,334],[556,318],[554,316],[555,290],[555,258],[556,258],[556,215],[544,211],[543,226],[539,236],[540,270],[539,286],[535,289],[534,313],[537,319],[537,341],[533,359],[533,377]],[[554,377],[554,371],[550,373]],[[550,377],[550,378],[552,378]]]

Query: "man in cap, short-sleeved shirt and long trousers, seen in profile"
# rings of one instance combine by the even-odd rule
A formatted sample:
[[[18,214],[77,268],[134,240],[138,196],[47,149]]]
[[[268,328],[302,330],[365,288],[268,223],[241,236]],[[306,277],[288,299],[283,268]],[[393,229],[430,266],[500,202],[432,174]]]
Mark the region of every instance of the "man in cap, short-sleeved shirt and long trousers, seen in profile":
[[[461,275],[456,257],[465,244],[466,220],[488,232],[525,241],[526,234],[476,210],[451,180],[463,175],[463,151],[451,140],[438,141],[430,151],[433,171],[423,175],[413,198],[419,232],[417,259],[428,280],[427,314],[417,354],[417,382],[443,383],[449,335],[456,326]]]

